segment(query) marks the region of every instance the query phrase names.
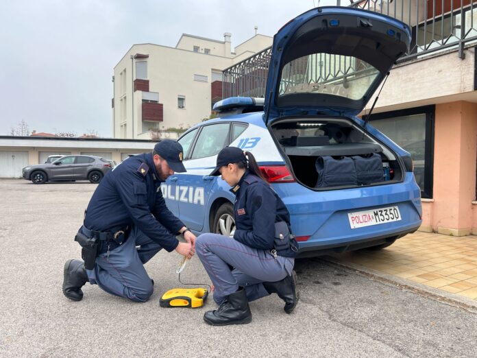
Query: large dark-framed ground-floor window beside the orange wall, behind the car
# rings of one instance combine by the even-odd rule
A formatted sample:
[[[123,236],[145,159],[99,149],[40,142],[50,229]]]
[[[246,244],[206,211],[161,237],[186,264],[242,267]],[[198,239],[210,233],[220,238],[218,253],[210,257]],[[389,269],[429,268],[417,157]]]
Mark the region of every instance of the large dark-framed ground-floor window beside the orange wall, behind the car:
[[[372,125],[411,154],[422,198],[432,198],[435,106],[371,116]]]

